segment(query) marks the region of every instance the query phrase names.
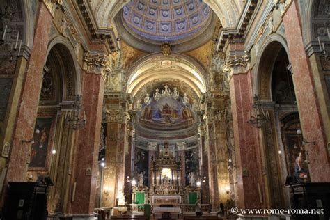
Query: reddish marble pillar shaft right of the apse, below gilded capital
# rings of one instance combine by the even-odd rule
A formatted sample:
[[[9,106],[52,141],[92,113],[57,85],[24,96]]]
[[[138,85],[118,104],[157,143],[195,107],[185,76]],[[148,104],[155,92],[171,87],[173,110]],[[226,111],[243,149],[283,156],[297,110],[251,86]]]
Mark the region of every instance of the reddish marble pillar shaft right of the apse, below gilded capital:
[[[239,199],[237,205],[241,208],[260,208],[265,204],[262,193],[261,155],[257,129],[246,122],[253,103],[251,91],[251,72],[233,74],[230,79],[230,99],[233,112],[236,166],[238,166],[237,193]]]

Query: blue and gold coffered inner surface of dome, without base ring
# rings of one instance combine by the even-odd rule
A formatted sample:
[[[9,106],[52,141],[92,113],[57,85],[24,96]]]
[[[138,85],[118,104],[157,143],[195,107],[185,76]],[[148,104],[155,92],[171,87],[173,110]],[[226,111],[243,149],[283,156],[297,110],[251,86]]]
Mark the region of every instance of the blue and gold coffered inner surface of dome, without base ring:
[[[201,0],[132,0],[124,6],[123,17],[140,38],[173,41],[201,33],[211,16]]]

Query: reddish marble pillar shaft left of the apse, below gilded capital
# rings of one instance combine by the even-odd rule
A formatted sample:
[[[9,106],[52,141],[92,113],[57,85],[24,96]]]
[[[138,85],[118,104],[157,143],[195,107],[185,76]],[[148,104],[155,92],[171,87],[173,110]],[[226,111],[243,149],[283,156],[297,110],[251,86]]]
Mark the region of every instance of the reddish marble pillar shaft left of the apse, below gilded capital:
[[[82,86],[86,127],[76,136],[72,185],[76,184],[71,214],[93,214],[97,181],[97,156],[102,123],[104,79],[101,74],[84,72]]]

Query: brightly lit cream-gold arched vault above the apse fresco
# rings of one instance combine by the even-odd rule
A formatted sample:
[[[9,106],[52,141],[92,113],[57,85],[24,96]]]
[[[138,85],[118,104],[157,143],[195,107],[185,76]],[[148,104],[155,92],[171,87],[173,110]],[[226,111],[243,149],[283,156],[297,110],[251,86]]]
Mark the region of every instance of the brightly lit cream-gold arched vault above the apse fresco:
[[[206,92],[205,70],[193,58],[172,53],[163,56],[155,53],[144,56],[127,71],[127,93],[136,95],[146,84],[159,79],[177,79],[194,90],[198,97]]]

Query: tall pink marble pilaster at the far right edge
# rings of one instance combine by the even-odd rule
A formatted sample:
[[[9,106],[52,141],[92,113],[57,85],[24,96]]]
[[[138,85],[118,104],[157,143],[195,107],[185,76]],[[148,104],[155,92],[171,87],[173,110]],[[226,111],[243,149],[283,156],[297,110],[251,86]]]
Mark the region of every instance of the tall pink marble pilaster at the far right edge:
[[[296,1],[292,1],[290,8],[283,16],[283,24],[292,64],[292,79],[297,97],[301,129],[306,140],[316,142],[315,145],[307,145],[311,181],[329,182],[330,158],[323,129],[324,126],[329,125],[323,125],[322,122],[315,82],[304,49],[301,19],[299,19],[299,9]]]

